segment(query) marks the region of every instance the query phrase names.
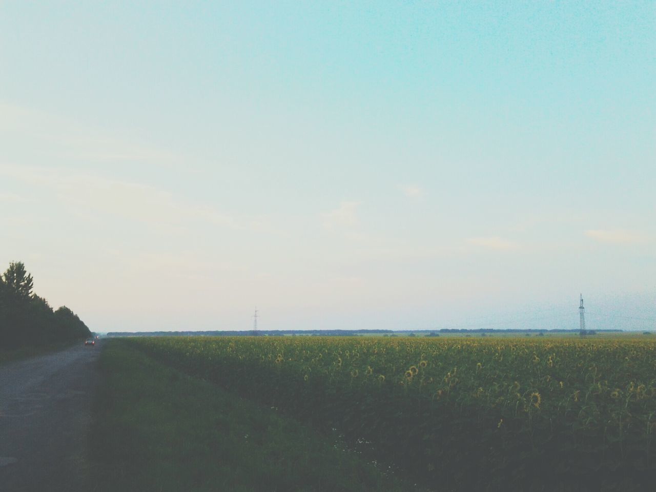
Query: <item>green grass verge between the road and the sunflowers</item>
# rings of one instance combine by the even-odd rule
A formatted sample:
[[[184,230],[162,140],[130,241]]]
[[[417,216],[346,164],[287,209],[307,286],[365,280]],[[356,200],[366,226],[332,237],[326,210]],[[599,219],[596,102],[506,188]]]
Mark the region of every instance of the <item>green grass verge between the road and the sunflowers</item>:
[[[417,490],[274,409],[121,340],[104,345],[89,445],[96,491]]]

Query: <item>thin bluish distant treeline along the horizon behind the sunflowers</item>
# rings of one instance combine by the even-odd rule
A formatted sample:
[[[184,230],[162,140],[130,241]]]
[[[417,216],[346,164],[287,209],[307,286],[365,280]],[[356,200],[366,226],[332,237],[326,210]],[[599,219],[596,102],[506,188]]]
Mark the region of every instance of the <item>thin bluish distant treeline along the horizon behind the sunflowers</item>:
[[[623,330],[588,330],[586,334],[594,335],[595,333],[609,333],[621,332]],[[241,331],[113,331],[108,333],[107,337],[283,337],[284,335],[305,335],[305,336],[318,336],[318,337],[359,337],[361,335],[394,335],[394,334],[414,334],[424,333],[426,336],[439,336],[440,333],[455,334],[455,333],[579,333],[577,329],[493,329],[493,328],[480,328],[475,330],[470,329],[455,329],[455,328],[441,328],[437,330],[241,330]]]

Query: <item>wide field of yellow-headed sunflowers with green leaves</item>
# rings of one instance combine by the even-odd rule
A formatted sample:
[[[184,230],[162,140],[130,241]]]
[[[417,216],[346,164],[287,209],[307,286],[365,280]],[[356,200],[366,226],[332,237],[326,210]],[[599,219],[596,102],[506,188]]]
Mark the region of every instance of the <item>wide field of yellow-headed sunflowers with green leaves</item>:
[[[653,490],[656,342],[166,337],[131,343],[439,491]]]

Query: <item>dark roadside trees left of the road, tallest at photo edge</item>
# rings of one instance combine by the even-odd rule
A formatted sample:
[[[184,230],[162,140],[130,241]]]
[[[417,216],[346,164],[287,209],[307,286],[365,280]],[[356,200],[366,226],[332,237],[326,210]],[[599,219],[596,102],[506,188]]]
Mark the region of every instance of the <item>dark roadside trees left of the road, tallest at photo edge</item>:
[[[34,280],[22,262],[0,275],[0,348],[43,345],[89,337],[91,331],[66,306],[52,310],[32,293]]]

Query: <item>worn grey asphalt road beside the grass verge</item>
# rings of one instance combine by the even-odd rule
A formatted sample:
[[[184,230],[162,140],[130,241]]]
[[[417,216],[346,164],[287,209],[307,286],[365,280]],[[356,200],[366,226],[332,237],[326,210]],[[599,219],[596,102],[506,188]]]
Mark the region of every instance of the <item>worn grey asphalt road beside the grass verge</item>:
[[[0,366],[0,492],[94,489],[87,442],[99,345]]]

